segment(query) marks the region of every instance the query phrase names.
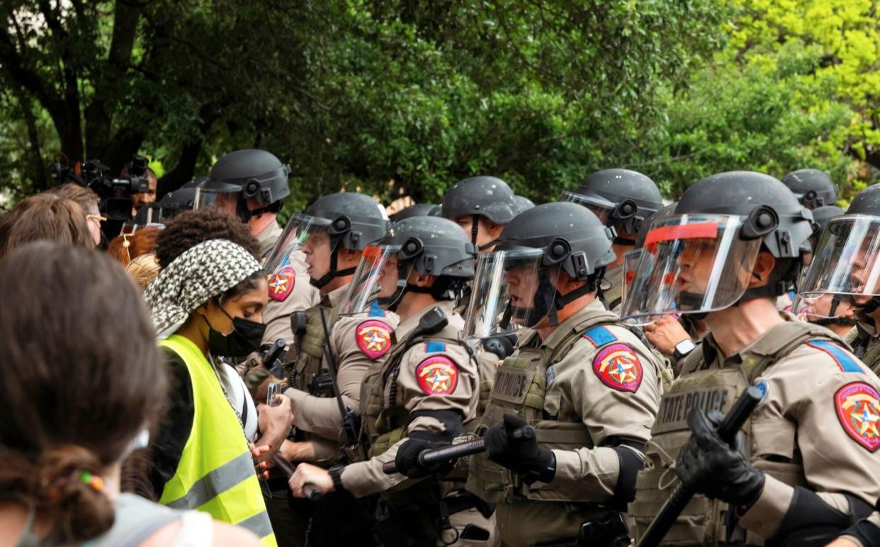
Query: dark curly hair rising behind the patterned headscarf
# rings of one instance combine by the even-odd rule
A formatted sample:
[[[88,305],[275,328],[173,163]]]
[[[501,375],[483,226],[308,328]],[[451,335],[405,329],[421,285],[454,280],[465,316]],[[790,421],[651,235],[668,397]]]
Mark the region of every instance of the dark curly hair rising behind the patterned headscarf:
[[[167,267],[188,249],[210,239],[239,244],[260,260],[260,243],[251,235],[251,229],[237,216],[209,207],[184,211],[165,224],[165,230],[156,239],[159,266]]]

